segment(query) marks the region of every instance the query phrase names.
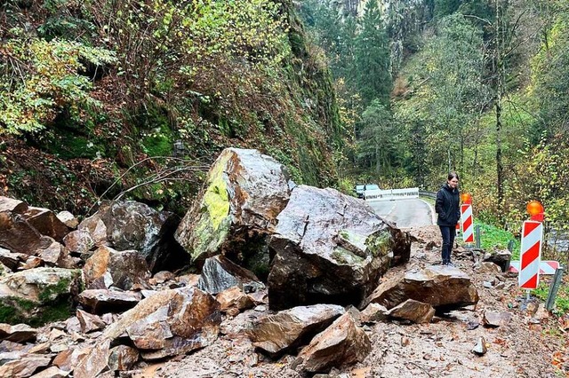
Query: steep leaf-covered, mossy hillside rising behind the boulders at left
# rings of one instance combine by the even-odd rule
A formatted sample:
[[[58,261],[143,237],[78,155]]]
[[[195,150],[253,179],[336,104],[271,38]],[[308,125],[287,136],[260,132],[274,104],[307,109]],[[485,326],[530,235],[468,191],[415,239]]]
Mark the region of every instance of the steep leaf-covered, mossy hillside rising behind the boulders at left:
[[[181,213],[226,146],[336,180],[332,81],[291,1],[8,1],[0,25],[3,194]]]

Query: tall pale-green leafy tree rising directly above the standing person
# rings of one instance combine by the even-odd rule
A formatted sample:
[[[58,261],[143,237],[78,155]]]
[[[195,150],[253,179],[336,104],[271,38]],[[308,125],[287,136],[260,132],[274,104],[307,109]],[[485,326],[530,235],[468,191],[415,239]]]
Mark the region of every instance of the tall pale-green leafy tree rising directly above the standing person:
[[[455,14],[437,23],[436,35],[405,68],[411,95],[397,104],[396,120],[413,152],[404,155],[405,166],[421,185],[436,188],[446,171],[462,174],[477,163],[466,161],[465,151],[484,135],[477,119],[491,98],[483,46],[482,31]]]

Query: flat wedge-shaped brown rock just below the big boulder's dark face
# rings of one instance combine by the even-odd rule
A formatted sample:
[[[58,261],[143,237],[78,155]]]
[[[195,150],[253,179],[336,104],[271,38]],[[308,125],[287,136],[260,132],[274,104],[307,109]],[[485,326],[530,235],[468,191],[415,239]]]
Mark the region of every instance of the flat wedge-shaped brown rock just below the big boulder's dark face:
[[[343,313],[341,306],[333,304],[294,307],[258,319],[247,334],[256,348],[276,357],[307,342]]]

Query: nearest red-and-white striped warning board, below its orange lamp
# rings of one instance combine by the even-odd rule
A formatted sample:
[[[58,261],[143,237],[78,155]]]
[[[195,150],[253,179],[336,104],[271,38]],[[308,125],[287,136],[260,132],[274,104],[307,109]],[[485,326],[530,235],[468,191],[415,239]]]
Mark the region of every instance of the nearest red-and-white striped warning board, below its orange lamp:
[[[537,288],[540,284],[541,238],[543,224],[525,221],[522,225],[522,248],[520,252],[517,282],[522,288]]]

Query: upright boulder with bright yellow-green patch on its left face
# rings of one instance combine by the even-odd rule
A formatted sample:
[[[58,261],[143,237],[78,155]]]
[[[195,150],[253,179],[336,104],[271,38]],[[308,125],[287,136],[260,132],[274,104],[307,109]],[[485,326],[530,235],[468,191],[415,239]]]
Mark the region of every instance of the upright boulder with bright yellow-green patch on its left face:
[[[256,271],[265,237],[288,201],[284,166],[256,150],[227,148],[210,169],[204,189],[175,233],[193,262],[224,254]],[[238,258],[239,256],[239,258]],[[243,260],[243,261],[241,261]],[[249,264],[251,263],[251,264]]]

